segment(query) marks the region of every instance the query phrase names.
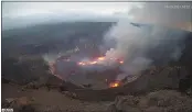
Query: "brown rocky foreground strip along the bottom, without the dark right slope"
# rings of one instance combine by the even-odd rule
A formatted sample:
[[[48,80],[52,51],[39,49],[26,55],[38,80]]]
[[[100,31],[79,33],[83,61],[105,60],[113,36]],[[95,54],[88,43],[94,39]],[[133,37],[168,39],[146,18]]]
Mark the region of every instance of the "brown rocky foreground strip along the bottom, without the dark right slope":
[[[18,86],[3,85],[2,101],[2,108],[13,108],[14,112],[192,112],[192,98],[175,90],[117,96],[115,101],[90,102],[78,100],[68,91],[49,91],[46,88],[21,90]]]

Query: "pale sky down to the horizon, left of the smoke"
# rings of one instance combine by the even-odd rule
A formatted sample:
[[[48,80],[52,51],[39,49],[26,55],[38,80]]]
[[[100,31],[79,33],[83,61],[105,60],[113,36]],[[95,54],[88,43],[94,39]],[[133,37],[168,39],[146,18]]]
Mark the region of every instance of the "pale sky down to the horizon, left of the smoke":
[[[114,22],[127,18],[131,2],[3,2],[2,30],[61,21]]]

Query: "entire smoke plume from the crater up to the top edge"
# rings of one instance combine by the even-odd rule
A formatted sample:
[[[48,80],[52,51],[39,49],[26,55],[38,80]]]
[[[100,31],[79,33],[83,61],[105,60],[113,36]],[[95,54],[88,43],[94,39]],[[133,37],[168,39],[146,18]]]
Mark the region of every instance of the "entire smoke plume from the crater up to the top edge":
[[[192,31],[189,7],[192,7],[190,2],[149,2],[132,7],[128,12],[129,20],[120,20],[105,35],[106,45],[116,42],[116,46],[106,52],[106,57],[124,57],[126,75],[137,75],[152,65],[178,60],[186,34],[180,30]],[[130,24],[130,21],[154,25]]]

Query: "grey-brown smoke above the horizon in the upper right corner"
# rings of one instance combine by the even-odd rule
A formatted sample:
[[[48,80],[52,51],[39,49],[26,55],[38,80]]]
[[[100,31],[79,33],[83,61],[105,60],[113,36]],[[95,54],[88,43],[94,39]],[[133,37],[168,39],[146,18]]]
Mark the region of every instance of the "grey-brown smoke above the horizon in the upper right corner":
[[[192,2],[146,2],[132,8],[131,21],[192,31]]]

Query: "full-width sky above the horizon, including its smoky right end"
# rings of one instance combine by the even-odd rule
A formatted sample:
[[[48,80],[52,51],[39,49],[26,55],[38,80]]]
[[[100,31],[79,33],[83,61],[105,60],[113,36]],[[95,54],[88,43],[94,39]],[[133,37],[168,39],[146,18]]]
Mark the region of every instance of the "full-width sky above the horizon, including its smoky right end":
[[[2,27],[41,22],[128,21],[192,31],[192,2],[3,2]]]

